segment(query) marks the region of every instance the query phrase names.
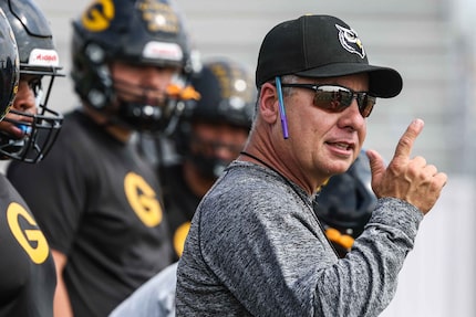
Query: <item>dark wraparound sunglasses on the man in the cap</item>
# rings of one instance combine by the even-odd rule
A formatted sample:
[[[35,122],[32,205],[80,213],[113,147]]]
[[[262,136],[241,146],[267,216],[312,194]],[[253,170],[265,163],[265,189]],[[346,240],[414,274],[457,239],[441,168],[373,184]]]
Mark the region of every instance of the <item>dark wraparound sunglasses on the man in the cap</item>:
[[[358,93],[338,85],[281,83],[281,86],[314,91],[314,106],[331,113],[343,112],[352,104],[353,99],[356,99],[359,112],[364,118],[370,116],[376,102],[376,97],[370,96],[368,93]]]

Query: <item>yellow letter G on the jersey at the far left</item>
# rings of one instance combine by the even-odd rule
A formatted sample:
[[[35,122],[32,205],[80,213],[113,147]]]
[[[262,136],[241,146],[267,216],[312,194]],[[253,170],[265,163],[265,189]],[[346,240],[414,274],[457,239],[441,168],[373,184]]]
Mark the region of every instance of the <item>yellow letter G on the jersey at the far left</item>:
[[[7,210],[7,221],[13,236],[30,256],[31,261],[35,264],[43,263],[48,258],[50,246],[33,216],[21,204],[12,202]],[[22,229],[20,223],[24,221],[32,229]]]

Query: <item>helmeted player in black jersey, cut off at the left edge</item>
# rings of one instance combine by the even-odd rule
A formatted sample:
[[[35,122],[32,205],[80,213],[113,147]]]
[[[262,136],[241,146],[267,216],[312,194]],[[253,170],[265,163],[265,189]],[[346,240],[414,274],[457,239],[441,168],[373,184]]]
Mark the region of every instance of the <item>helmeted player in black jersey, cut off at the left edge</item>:
[[[49,95],[60,67],[51,30],[33,2],[0,2],[0,158],[35,163],[53,145],[62,116],[46,107],[48,98],[42,99],[43,77],[50,77]],[[0,254],[0,316],[52,316],[56,277],[50,246],[3,175]]]

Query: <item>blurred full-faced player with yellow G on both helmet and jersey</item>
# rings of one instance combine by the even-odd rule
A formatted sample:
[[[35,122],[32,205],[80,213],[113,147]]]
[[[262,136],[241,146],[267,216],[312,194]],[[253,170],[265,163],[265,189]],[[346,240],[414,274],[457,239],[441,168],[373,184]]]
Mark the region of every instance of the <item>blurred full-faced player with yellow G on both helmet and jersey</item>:
[[[38,167],[9,168],[49,240],[55,316],[106,316],[173,261],[153,168],[137,131],[161,131],[184,96],[186,33],[167,1],[95,1],[73,22],[82,107]]]

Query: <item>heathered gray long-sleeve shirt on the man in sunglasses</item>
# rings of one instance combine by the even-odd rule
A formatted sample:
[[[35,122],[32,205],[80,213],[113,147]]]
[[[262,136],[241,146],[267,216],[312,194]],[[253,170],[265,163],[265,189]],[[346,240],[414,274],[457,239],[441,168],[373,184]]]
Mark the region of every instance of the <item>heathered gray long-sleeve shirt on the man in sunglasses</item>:
[[[193,220],[177,271],[177,316],[377,316],[422,212],[380,199],[339,260],[311,199],[270,169],[231,163]]]

